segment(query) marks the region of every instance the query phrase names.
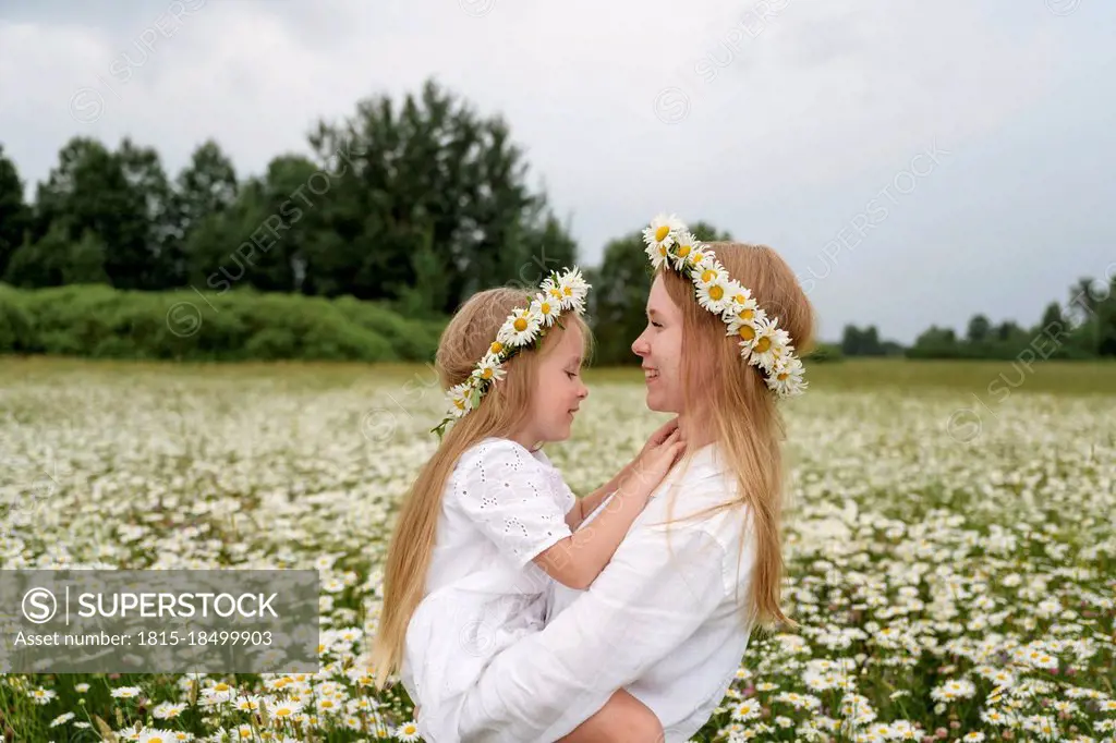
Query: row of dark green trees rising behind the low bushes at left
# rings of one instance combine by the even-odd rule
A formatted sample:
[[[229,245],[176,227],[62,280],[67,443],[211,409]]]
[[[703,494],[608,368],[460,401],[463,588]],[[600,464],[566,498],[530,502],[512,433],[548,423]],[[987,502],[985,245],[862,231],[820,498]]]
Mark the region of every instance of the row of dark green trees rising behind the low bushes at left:
[[[0,277],[18,288],[252,287],[439,316],[576,258],[508,125],[433,80],[401,104],[374,97],[318,122],[308,144],[311,156],[281,154],[240,180],[209,141],[172,178],[152,147],[75,137],[31,204],[0,149]]]

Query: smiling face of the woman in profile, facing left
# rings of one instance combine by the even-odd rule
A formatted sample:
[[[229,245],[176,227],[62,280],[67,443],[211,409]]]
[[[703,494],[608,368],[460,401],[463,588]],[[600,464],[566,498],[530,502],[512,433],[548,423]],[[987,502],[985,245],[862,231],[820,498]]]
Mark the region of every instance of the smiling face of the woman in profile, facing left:
[[[666,293],[661,276],[647,296],[647,327],[632,344],[643,359],[647,407],[660,413],[682,413],[682,310]]]

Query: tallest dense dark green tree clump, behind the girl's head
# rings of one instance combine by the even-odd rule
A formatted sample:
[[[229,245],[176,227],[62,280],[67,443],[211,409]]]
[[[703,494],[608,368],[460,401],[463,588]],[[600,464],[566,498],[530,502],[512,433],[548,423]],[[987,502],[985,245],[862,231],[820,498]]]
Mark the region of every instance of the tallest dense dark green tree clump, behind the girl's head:
[[[508,125],[427,81],[402,105],[359,104],[310,137],[330,174],[326,237],[306,254],[306,290],[402,298],[450,312],[469,295],[519,280],[559,225],[526,184],[527,165]],[[445,277],[417,295],[417,277]]]

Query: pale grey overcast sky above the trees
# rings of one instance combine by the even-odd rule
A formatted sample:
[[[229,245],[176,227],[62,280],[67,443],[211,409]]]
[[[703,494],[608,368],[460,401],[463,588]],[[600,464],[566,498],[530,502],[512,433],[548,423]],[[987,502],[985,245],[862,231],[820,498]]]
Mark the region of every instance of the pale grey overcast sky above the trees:
[[[433,76],[583,263],[675,212],[779,250],[824,338],[906,342],[1116,276],[1114,37],[1109,0],[0,0],[0,144],[29,191],[74,135],[244,177]]]

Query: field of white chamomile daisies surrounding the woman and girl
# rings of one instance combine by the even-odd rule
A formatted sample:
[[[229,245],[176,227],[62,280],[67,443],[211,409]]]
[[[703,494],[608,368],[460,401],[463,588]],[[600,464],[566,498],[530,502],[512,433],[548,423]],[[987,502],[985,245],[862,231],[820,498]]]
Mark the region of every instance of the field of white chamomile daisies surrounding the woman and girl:
[[[848,361],[807,378],[786,407],[798,624],[753,636],[696,740],[1116,740],[1116,366]],[[637,373],[588,379],[574,437],[548,447],[581,494],[665,421]],[[321,578],[319,673],[0,673],[4,740],[419,740],[364,658],[396,504],[435,447],[433,382],[0,361],[0,567]]]

